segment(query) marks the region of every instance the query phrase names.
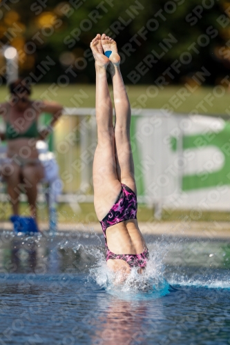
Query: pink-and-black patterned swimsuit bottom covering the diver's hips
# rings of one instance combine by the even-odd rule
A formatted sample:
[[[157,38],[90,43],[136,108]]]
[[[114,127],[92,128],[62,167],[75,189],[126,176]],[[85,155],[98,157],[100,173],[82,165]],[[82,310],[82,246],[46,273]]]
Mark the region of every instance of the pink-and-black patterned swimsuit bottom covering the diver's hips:
[[[106,228],[113,226],[121,221],[137,218],[137,196],[125,184],[122,184],[122,190],[117,197],[117,201],[109,210],[106,217],[100,221],[104,238],[106,241]]]

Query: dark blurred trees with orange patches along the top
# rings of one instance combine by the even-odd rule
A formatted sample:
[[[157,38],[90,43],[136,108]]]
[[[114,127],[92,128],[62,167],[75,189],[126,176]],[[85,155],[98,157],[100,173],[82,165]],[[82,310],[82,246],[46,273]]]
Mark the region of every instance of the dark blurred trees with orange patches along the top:
[[[40,82],[64,83],[62,75],[94,81],[89,44],[98,32],[117,40],[126,83],[154,83],[161,75],[188,81],[202,66],[207,83],[215,83],[229,70],[230,11],[221,0],[13,2],[0,7],[0,43],[15,46],[21,75],[32,72]]]

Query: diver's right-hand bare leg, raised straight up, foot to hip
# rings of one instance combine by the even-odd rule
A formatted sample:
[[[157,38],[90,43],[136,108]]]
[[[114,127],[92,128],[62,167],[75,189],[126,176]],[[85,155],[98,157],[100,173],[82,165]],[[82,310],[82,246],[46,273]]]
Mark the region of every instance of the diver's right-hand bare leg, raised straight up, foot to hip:
[[[130,142],[131,107],[128,95],[119,69],[120,58],[117,53],[117,44],[113,39],[102,34],[104,52],[111,50],[109,65],[113,79],[113,96],[115,104],[115,150],[117,160],[117,175],[121,183],[126,184],[136,193],[133,154]]]

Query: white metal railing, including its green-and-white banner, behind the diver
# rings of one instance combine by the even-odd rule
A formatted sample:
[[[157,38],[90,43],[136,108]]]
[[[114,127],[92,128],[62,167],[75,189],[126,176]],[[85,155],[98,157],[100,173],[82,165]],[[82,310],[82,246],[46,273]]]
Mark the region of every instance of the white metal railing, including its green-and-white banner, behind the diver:
[[[223,119],[157,109],[132,109],[132,116],[139,203],[155,206],[158,217],[162,208],[230,209],[230,158],[224,151],[228,143],[222,142],[230,130]],[[57,200],[76,210],[79,203],[93,202],[96,146],[95,108],[65,108],[55,128],[54,153],[63,184]]]

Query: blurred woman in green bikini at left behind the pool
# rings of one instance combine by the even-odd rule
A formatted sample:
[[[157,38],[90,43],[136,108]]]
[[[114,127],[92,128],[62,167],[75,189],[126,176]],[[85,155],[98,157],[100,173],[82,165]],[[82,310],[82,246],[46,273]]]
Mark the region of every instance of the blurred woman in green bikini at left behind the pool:
[[[0,115],[6,123],[7,159],[1,175],[8,186],[13,215],[19,215],[19,195],[28,197],[30,215],[36,220],[37,183],[44,177],[44,168],[36,148],[38,139],[52,132],[63,107],[59,103],[30,99],[30,84],[18,79],[10,84],[10,99],[0,104]],[[49,126],[39,132],[38,119],[42,112],[52,115]]]

